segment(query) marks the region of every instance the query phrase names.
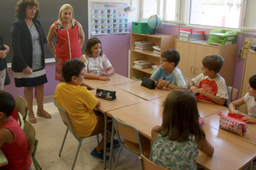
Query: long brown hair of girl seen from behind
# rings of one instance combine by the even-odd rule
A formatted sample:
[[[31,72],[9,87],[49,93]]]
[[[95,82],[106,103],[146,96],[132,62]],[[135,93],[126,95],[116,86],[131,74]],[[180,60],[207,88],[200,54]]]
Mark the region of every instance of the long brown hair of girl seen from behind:
[[[199,124],[197,101],[194,94],[189,91],[175,89],[171,91],[163,103],[163,123],[158,129],[161,136],[169,140],[182,142],[194,134],[195,141],[205,138]]]

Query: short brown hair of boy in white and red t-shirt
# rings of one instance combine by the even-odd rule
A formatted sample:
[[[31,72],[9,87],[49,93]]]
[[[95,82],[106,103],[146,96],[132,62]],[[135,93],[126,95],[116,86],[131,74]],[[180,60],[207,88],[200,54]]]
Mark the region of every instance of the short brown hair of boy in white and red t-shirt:
[[[224,64],[224,60],[218,54],[210,54],[203,57],[202,63],[203,63],[203,67],[208,69],[208,70],[206,69],[207,71],[214,71],[214,73],[217,74],[220,72]],[[205,73],[203,73],[203,75],[208,76],[208,75],[205,75]]]

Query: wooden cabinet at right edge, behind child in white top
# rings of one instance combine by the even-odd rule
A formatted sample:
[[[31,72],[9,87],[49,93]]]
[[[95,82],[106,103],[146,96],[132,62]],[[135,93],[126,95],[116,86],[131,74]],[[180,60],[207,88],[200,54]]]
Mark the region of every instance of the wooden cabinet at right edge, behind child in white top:
[[[249,86],[249,78],[253,75],[256,75],[255,65],[256,65],[256,52],[247,51],[247,54],[244,60],[244,71],[242,74],[242,83],[241,83],[239,98],[244,97],[244,95],[248,92],[247,86]],[[239,111],[244,113],[246,107],[247,107],[246,103],[244,105],[241,105],[239,107]]]

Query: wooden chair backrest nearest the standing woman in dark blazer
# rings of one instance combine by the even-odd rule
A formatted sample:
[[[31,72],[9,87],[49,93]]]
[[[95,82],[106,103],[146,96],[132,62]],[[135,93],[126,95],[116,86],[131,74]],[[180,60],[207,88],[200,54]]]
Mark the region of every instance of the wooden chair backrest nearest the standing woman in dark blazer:
[[[23,122],[25,123],[27,118],[27,112],[28,112],[27,101],[23,99],[23,97],[18,95],[15,102],[16,102],[15,108],[17,110],[18,116],[20,113],[20,115],[22,115]]]

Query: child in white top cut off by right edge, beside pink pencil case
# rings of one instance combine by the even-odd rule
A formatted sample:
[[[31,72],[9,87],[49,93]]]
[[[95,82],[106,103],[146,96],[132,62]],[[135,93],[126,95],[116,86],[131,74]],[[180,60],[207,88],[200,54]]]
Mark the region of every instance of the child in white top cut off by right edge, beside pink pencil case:
[[[242,97],[241,99],[229,103],[228,108],[231,113],[244,115],[242,121],[245,121],[246,123],[256,123],[256,75],[250,77],[249,86],[247,87],[247,89],[247,94],[245,94],[244,97]],[[244,103],[247,104],[248,115],[245,113],[241,113],[239,110],[236,110],[236,107],[239,107]]]

